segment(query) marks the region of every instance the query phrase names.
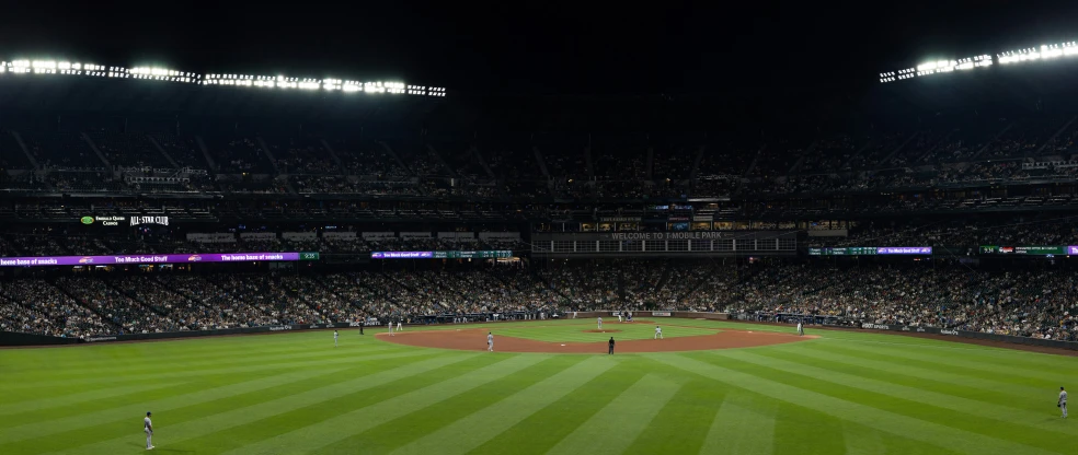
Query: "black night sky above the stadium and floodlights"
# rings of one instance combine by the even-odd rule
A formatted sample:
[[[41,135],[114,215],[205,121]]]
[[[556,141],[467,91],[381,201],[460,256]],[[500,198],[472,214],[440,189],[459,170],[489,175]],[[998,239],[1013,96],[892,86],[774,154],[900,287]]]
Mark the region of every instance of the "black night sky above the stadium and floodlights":
[[[0,18],[2,59],[404,79],[478,93],[856,93],[922,56],[1078,39],[1078,5],[1010,0],[22,3]]]

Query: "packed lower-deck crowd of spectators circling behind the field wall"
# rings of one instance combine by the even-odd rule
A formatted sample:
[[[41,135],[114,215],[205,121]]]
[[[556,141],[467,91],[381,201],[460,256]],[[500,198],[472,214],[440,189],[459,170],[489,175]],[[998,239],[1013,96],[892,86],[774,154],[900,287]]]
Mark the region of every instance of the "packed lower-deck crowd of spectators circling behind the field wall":
[[[837,316],[1078,340],[1078,275],[957,264],[552,261],[308,275],[94,273],[0,281],[0,326],[67,337],[596,310]]]

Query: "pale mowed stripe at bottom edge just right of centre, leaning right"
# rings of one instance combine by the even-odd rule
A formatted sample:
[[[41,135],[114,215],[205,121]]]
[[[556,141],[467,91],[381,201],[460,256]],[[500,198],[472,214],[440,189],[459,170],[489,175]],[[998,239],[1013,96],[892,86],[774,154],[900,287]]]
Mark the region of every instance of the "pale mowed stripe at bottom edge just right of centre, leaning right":
[[[645,375],[547,453],[620,454],[679,388],[657,375]]]

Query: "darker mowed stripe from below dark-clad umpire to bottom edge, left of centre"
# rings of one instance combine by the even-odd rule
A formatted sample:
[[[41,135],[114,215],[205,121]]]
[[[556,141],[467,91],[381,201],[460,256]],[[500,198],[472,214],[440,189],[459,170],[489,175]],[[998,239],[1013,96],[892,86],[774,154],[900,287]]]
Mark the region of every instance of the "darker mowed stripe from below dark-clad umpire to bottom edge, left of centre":
[[[501,455],[505,453],[505,447],[513,447],[514,455],[546,454],[644,374],[647,371],[634,368],[632,362],[619,362],[617,366],[534,412],[468,455]],[[542,431],[536,431],[537,428]]]

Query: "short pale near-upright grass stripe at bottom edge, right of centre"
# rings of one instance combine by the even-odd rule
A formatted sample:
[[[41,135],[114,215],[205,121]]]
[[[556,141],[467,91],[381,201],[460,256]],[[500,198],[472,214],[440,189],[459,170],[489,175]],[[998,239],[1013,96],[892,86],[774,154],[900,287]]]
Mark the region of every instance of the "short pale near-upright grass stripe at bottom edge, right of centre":
[[[771,454],[776,406],[727,392],[711,421],[700,454]]]

